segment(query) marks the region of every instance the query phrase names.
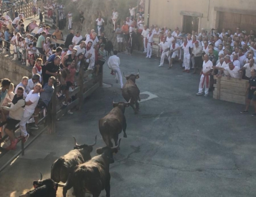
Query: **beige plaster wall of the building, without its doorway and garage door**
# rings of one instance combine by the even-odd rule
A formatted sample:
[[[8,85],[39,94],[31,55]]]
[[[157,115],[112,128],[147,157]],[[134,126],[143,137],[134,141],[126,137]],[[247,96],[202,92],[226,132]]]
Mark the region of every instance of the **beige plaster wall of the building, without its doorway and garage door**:
[[[175,27],[179,27],[180,30],[183,28],[183,15],[181,11],[203,14],[203,17],[199,18],[198,29],[210,30],[218,25],[219,20],[214,7],[253,15],[255,15],[254,10],[256,9],[255,0],[146,0],[145,19],[147,19],[149,2],[149,25],[167,26],[172,30]]]

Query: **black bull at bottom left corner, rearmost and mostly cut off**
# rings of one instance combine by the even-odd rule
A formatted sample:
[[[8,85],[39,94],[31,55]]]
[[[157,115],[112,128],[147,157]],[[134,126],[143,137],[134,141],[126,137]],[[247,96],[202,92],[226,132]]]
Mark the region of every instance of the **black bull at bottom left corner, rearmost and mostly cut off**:
[[[39,181],[33,181],[33,186],[35,189],[27,192],[26,194],[20,195],[19,197],[56,197],[56,192],[58,187],[65,186],[64,184],[59,184],[52,179],[46,179],[42,181],[42,173]]]

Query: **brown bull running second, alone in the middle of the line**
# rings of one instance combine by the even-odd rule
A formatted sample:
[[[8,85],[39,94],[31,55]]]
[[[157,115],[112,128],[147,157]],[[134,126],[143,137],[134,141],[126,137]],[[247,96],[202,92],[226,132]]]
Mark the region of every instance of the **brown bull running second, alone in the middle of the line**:
[[[113,147],[111,140],[115,142],[117,146],[118,135],[123,130],[123,137],[127,138],[126,135],[126,119],[125,119],[125,108],[130,105],[128,103],[114,103],[113,109],[104,117],[99,120],[100,134],[109,147]]]

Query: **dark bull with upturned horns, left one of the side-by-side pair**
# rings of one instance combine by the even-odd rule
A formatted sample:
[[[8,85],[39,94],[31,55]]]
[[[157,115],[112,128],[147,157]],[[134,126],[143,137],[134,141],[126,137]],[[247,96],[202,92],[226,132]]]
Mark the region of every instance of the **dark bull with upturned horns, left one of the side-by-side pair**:
[[[78,145],[76,138],[74,150],[70,151],[68,154],[61,156],[52,164],[51,179],[59,183],[62,181],[66,183],[68,175],[73,167],[79,164],[83,164],[87,160],[91,159],[90,153],[92,152],[92,147],[96,145],[97,135],[95,136],[95,141],[92,145]]]

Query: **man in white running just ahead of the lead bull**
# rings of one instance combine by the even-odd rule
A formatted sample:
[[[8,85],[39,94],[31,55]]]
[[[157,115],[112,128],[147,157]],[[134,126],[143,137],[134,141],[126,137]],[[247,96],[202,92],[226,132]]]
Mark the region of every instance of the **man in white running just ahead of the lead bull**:
[[[115,78],[117,83],[119,78],[121,89],[123,89],[123,78],[122,78],[122,73],[120,71],[120,58],[117,57],[117,51],[114,51],[114,55],[109,57],[107,65],[109,69],[112,69],[112,71],[115,73]]]

